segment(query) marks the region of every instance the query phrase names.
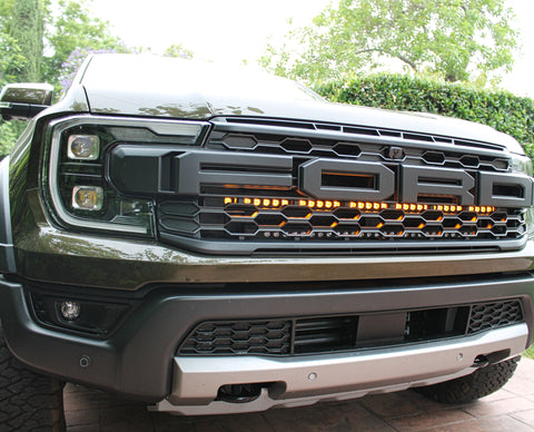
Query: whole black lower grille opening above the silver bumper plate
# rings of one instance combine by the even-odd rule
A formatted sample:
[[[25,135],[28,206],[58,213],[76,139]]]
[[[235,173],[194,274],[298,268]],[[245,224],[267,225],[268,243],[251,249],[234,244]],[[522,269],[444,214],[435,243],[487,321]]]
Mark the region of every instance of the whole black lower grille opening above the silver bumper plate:
[[[205,322],[179,355],[297,355],[472,335],[523,322],[516,300],[454,307],[290,320]]]

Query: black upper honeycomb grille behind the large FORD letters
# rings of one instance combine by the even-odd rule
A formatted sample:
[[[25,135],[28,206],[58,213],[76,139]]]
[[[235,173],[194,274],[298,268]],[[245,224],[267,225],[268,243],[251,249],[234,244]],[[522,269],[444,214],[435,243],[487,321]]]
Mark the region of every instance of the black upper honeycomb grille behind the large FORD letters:
[[[269,160],[274,165],[247,170],[244,166],[233,166],[231,160],[220,160],[220,156],[200,165],[208,179],[199,185],[198,195],[158,198],[158,230],[164,242],[227,254],[498,251],[523,245],[524,208],[462,206],[454,195],[431,193],[405,203],[399,190],[379,200],[316,199],[300,185],[300,169],[315,160],[379,165],[396,179],[405,167],[429,173],[461,171],[475,185],[484,173],[498,176],[510,171],[503,147],[454,137],[340,125],[243,118],[215,122],[206,143],[207,151],[236,157],[261,155],[273,158]],[[277,157],[289,167],[277,167]],[[210,184],[210,176],[217,178],[217,175],[224,175],[227,181]],[[233,175],[250,176],[250,184],[240,180],[231,185]],[[254,183],[254,176],[277,178],[273,184],[287,181],[289,186],[264,187]],[[172,183],[172,177],[169,178]],[[380,188],[377,178],[373,174],[332,173],[323,174],[322,181],[325,189],[359,188],[373,195]],[[443,188],[454,187],[456,180],[444,176],[431,181],[441,181]],[[477,194],[475,189],[469,193]],[[507,186],[498,189],[500,196],[511,199],[523,193]]]

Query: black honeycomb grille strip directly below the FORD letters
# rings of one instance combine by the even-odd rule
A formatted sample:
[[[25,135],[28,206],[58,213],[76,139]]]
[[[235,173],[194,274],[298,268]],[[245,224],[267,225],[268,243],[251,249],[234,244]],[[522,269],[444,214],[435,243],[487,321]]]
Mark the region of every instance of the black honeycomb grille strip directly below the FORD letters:
[[[271,199],[267,199],[271,202]],[[358,209],[345,203],[332,208],[298,205],[299,200],[269,208],[251,204],[224,204],[221,198],[196,203],[164,203],[160,227],[189,237],[234,240],[468,240],[515,239],[525,232],[524,214],[495,210],[487,214],[395,208]],[[297,205],[295,205],[295,204]],[[432,206],[429,206],[432,208]]]

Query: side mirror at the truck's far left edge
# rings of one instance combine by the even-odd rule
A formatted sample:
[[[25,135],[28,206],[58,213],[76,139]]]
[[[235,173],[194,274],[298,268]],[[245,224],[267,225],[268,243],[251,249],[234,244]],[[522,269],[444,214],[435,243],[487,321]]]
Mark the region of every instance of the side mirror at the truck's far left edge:
[[[0,92],[0,114],[4,120],[28,120],[52,105],[49,84],[8,84]]]

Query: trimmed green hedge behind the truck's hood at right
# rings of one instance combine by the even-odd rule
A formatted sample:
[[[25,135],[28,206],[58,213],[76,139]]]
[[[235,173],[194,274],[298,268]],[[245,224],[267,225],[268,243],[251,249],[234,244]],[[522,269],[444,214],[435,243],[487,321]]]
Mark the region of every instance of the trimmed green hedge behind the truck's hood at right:
[[[390,73],[330,82],[317,86],[316,91],[338,102],[434,112],[488,125],[512,135],[534,156],[534,101],[507,91]]]

